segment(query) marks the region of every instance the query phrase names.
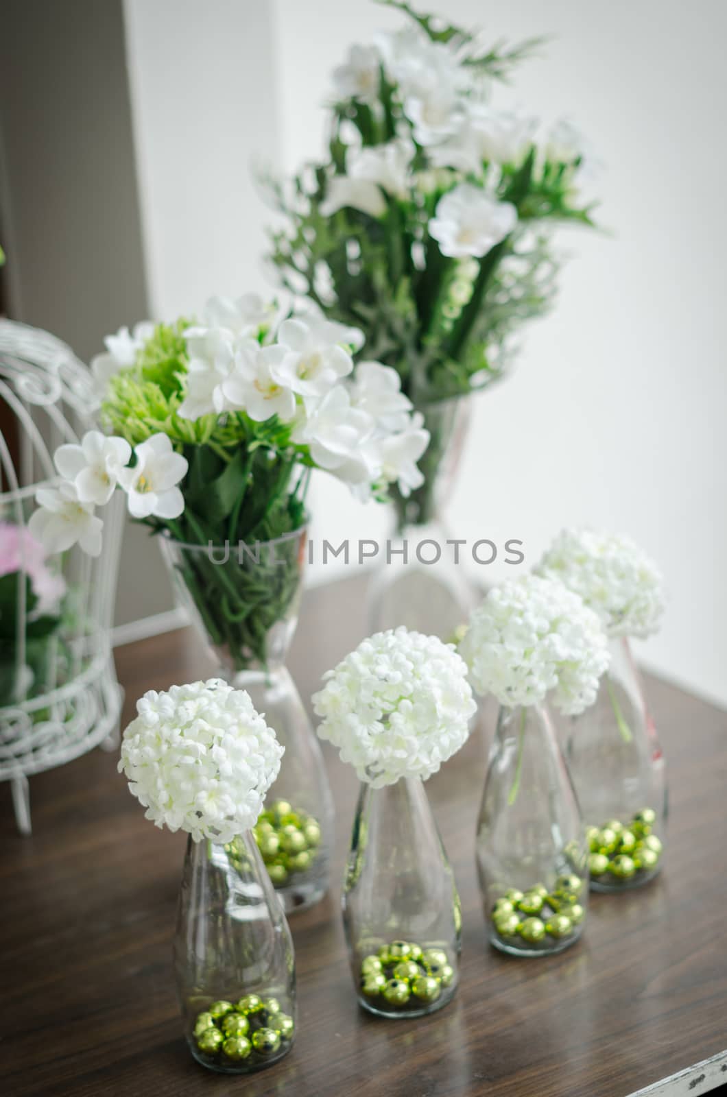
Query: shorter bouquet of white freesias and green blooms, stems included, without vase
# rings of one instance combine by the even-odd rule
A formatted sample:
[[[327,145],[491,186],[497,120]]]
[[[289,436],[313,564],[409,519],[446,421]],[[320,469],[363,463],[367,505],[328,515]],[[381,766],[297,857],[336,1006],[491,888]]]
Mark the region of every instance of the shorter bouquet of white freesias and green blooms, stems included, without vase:
[[[394,484],[405,495],[422,483],[422,418],[394,370],[354,367],[361,332],[310,302],[287,314],[256,294],[213,298],[199,321],[122,328],[105,342],[92,367],[108,433],[58,449],[63,482],[37,494],[31,533],[49,552],[79,542],[98,554],[96,508],[122,488],[135,520],[199,548],[176,568],[231,669],[267,665],[268,632],[300,588],[309,471],[361,499]],[[270,543],[278,551],[260,554]],[[241,544],[254,567],[241,566]]]

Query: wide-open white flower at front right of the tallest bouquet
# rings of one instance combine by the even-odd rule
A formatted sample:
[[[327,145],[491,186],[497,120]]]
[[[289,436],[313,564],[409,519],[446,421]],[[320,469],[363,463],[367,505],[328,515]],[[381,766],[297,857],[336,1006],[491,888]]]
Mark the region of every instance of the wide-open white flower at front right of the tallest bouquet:
[[[511,202],[496,202],[479,186],[460,183],[437,202],[429,234],[443,256],[482,257],[512,233],[517,211]]]

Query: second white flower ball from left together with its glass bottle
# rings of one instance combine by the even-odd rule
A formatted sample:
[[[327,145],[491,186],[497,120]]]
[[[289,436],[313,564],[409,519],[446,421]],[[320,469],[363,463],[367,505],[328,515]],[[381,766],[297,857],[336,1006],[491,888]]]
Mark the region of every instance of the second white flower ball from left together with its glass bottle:
[[[313,705],[320,737],[361,781],[344,890],[358,1000],[422,1016],[459,979],[459,897],[422,781],[469,735],[467,666],[436,636],[389,630],[329,670]]]

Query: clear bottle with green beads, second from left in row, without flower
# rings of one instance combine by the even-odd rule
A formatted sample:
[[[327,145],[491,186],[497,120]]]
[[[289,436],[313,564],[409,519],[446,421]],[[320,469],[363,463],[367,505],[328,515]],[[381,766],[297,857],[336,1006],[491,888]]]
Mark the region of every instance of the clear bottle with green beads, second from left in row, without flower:
[[[451,1000],[459,982],[459,895],[418,778],[361,785],[343,909],[365,1009],[421,1017]]]

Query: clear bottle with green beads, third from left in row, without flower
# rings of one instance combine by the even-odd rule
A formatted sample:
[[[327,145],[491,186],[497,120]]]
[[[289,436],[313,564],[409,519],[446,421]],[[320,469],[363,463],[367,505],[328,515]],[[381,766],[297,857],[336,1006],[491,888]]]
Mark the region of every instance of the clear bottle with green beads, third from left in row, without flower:
[[[544,706],[500,709],[476,850],[495,948],[548,955],[579,939],[588,909],[585,832]]]

